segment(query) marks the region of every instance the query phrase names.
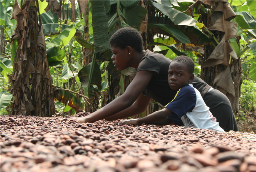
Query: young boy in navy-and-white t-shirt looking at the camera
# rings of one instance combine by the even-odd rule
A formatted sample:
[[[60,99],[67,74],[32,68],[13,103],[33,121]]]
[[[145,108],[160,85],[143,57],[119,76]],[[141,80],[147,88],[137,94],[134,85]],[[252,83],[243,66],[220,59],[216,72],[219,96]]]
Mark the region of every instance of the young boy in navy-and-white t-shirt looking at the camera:
[[[178,56],[170,63],[168,82],[172,90],[178,90],[174,99],[164,109],[144,118],[124,121],[123,124],[156,123],[170,120],[178,123],[179,118],[186,127],[214,129],[224,132],[209,107],[203,101],[199,91],[189,84],[194,79],[194,61],[187,56]]]

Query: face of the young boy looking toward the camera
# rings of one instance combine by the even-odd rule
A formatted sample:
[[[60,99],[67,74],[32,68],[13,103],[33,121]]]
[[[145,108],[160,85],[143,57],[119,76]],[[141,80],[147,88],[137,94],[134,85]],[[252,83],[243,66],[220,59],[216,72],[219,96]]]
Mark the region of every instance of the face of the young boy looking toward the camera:
[[[172,90],[180,88],[193,81],[194,74],[188,72],[188,67],[181,62],[172,61],[168,70],[168,82]]]

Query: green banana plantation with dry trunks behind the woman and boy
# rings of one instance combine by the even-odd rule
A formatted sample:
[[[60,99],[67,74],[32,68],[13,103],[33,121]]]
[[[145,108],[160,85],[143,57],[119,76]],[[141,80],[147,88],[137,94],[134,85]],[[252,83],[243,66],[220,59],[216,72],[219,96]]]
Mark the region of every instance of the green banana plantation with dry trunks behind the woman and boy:
[[[0,0],[0,114],[70,116],[121,95],[135,75],[112,65],[109,39],[139,30],[144,48],[187,55],[256,133],[254,0]],[[151,102],[143,117],[161,109]]]

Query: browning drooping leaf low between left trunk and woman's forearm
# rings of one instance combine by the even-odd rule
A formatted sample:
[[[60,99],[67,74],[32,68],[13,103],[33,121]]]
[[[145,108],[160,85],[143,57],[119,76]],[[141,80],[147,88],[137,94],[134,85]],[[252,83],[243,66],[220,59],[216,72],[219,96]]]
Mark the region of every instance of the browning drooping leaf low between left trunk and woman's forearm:
[[[56,86],[57,87],[57,86]],[[60,87],[57,87],[60,88]],[[56,89],[53,93],[54,98],[62,102],[64,105],[69,105],[72,109],[82,109],[83,104],[75,95],[65,90]]]

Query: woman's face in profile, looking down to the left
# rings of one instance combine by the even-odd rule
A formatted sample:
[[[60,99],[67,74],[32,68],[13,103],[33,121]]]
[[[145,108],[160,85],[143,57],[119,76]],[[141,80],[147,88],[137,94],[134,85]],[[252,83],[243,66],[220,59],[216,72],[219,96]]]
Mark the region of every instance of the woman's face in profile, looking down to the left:
[[[113,53],[111,59],[113,60],[114,67],[116,67],[118,71],[122,71],[130,67],[129,66],[130,58],[128,56],[129,52],[127,51],[127,49],[126,48],[121,49],[115,46],[110,46],[110,47]]]

